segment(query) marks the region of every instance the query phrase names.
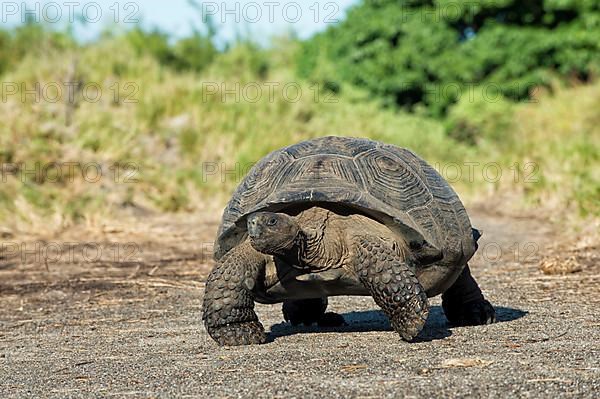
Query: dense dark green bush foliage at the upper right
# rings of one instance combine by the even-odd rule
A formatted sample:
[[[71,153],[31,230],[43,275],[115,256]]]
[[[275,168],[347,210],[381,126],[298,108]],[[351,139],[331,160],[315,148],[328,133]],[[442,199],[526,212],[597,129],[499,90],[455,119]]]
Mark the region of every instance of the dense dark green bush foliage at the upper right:
[[[304,43],[299,71],[439,116],[478,86],[523,100],[556,77],[588,81],[598,38],[595,0],[365,0]]]

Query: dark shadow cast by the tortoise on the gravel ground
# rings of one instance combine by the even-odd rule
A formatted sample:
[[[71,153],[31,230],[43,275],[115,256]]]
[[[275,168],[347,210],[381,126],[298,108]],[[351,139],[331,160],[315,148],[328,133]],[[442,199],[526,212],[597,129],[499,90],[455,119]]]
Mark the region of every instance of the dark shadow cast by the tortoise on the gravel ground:
[[[527,311],[515,308],[507,308],[496,306],[496,323],[504,323],[520,319],[527,315]],[[279,337],[294,335],[294,334],[309,334],[309,333],[350,333],[350,332],[366,332],[366,331],[393,331],[388,318],[381,310],[365,310],[358,312],[343,313],[342,316],[346,320],[344,326],[339,327],[319,327],[319,326],[292,326],[291,323],[281,322],[273,324],[269,333],[269,341],[273,341]],[[454,328],[469,328],[469,327],[452,327],[446,320],[444,311],[441,306],[432,306],[429,308],[429,317],[423,327],[423,330],[414,339],[414,342],[431,342],[452,335]]]

